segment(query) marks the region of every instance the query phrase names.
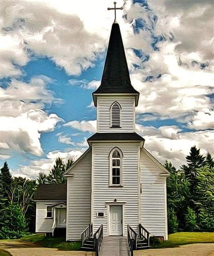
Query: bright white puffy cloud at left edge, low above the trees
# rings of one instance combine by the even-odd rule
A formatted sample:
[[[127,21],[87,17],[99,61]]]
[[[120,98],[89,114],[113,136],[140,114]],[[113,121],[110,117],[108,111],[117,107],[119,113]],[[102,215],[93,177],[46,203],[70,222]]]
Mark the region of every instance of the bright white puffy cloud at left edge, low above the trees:
[[[57,122],[62,121],[56,114],[47,116],[42,110],[30,110],[19,116],[1,116],[0,142],[9,149],[42,155],[41,132],[53,131]]]

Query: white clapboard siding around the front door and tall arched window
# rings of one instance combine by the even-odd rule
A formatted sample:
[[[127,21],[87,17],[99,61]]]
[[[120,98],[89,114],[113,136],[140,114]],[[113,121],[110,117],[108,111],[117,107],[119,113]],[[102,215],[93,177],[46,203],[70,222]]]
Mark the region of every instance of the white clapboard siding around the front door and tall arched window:
[[[121,149],[122,187],[109,186],[109,154],[115,147]],[[138,183],[138,147],[139,143],[94,143],[93,144],[93,231],[103,224],[103,234],[108,235],[108,203],[124,203],[123,235],[127,234],[127,224],[136,231],[139,223],[139,183]],[[104,218],[97,217],[98,212]]]

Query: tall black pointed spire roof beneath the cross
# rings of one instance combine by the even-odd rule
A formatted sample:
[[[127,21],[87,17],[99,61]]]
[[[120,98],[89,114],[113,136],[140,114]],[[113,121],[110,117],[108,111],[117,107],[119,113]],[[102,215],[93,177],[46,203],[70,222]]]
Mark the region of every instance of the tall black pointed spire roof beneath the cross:
[[[93,92],[95,106],[97,105],[96,94],[99,93],[135,94],[136,105],[138,102],[139,92],[137,92],[131,85],[126,54],[118,23],[112,24],[101,85],[95,92]]]

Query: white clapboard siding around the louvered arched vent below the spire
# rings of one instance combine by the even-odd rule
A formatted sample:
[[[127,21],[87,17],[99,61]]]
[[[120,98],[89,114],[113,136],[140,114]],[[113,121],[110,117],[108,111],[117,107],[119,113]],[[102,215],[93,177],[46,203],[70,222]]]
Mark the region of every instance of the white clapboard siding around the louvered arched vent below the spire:
[[[111,127],[111,106],[118,102],[121,106],[121,128]],[[98,96],[97,105],[98,132],[134,132],[135,131],[135,97]]]

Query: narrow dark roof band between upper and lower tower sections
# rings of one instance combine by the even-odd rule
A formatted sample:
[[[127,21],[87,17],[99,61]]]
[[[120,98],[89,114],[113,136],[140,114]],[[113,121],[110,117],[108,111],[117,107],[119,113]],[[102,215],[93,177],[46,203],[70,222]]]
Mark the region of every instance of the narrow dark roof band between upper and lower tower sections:
[[[89,141],[118,141],[118,140],[133,140],[144,141],[140,135],[136,132],[107,132],[107,133],[95,133],[89,139]]]

